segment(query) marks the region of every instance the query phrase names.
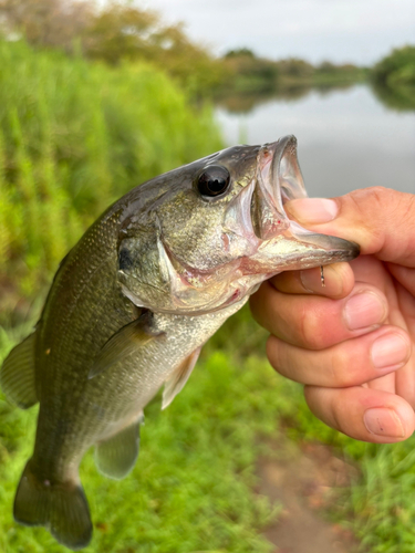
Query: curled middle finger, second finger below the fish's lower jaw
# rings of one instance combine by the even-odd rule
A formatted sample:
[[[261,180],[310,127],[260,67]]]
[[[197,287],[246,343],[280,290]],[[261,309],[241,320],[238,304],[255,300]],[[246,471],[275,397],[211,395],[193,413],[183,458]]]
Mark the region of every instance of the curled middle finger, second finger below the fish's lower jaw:
[[[259,324],[279,338],[309,349],[322,349],[376,328],[387,316],[385,295],[356,283],[342,300],[283,294],[264,282],[252,296]]]

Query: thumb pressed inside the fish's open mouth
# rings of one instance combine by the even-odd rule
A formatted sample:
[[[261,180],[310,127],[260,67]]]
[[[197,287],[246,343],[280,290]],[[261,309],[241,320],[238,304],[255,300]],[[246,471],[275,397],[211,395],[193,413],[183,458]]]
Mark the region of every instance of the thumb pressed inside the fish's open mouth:
[[[354,190],[334,199],[304,198],[284,205],[308,229],[357,242],[363,254],[415,267],[415,196],[388,188]]]

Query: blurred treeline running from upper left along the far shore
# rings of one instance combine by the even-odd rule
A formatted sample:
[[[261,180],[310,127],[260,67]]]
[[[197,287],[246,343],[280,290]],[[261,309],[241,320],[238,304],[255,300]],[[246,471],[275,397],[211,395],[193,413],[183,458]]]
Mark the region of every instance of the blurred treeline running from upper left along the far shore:
[[[218,59],[191,41],[181,24],[166,25],[156,12],[125,2],[97,7],[87,0],[0,0],[0,15],[9,38],[24,36],[33,46],[82,53],[111,65],[146,60],[194,95],[344,84],[365,76],[350,64],[272,61],[248,49]]]

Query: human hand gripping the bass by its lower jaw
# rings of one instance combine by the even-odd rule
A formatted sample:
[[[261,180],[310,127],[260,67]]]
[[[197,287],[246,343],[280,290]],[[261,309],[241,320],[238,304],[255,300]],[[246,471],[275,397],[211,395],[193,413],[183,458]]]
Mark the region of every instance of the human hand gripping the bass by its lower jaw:
[[[267,354],[307,403],[352,438],[390,444],[415,429],[415,196],[386,188],[284,206],[303,227],[357,242],[347,263],[288,271],[251,298]]]

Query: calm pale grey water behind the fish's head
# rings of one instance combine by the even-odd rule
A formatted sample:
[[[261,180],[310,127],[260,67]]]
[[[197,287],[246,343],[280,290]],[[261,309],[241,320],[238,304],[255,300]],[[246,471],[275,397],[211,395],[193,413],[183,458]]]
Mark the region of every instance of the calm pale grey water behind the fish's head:
[[[415,194],[415,114],[385,107],[365,85],[272,98],[246,114],[217,107],[216,116],[229,145],[295,135],[310,196],[370,186]]]

